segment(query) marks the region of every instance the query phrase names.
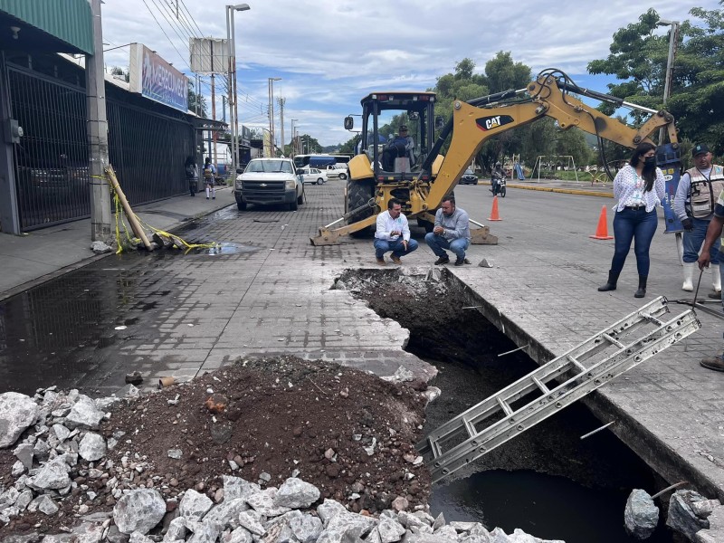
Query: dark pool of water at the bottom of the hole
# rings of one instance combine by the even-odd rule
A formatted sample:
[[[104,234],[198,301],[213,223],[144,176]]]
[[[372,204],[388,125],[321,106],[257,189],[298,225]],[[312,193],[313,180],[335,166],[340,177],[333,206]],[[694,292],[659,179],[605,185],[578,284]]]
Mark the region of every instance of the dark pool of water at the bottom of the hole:
[[[508,534],[519,528],[566,543],[630,543],[638,539],[624,529],[627,498],[627,491],[590,489],[565,477],[490,470],[433,488],[430,509],[447,522],[481,522]],[[663,522],[647,543],[672,543]]]

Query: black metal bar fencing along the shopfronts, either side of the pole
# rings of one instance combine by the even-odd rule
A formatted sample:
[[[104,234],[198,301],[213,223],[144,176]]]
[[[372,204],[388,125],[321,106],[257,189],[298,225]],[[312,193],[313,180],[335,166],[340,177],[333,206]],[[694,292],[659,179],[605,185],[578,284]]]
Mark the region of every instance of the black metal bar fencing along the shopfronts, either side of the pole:
[[[14,65],[8,65],[8,81],[11,113],[24,129],[14,146],[22,230],[89,216],[84,88]],[[169,116],[148,100],[106,88],[110,164],[129,202],[186,192],[184,159],[194,153],[195,131],[184,114]]]

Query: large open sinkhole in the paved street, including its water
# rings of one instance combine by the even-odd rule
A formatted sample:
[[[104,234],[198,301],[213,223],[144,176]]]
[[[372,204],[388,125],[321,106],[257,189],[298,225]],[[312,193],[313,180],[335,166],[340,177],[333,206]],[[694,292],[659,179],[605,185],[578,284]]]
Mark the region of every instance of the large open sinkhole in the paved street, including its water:
[[[350,270],[335,288],[409,329],[405,349],[438,369],[429,385],[442,395],[427,406],[424,433],[538,367],[476,309],[483,300],[444,269]],[[569,405],[434,485],[431,512],[567,543],[636,541],[624,529],[628,495],[653,495],[668,482],[608,430],[580,439],[608,422],[581,402]],[[677,540],[664,526],[670,495],[656,500],[660,521],[648,541]]]

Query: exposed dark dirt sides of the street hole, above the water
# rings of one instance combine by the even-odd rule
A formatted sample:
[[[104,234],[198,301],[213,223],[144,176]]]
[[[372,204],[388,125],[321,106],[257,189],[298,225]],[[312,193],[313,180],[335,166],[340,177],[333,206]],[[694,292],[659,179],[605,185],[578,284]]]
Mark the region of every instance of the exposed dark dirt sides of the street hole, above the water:
[[[476,302],[454,288],[457,280],[445,271],[442,281],[426,280],[425,270],[407,268],[347,272],[340,281],[380,316],[410,329],[407,350],[438,368],[429,385],[443,394],[427,406],[424,433],[537,367],[524,353],[498,357],[517,346],[479,311],[462,310]],[[580,440],[602,424],[584,405],[571,405],[453,477],[491,469],[534,470],[594,488],[653,488],[652,472],[612,434]]]

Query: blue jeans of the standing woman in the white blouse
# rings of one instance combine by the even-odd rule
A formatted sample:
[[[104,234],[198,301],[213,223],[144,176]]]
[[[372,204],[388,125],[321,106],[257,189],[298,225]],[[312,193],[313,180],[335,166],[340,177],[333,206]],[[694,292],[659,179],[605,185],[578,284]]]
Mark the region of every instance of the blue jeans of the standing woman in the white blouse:
[[[614,261],[611,262],[611,271],[621,273],[624,269],[624,262],[633,241],[636,268],[639,275],[648,277],[651,265],[649,247],[658,224],[659,218],[655,209],[647,213],[645,209],[624,207],[617,211],[614,216]]]

